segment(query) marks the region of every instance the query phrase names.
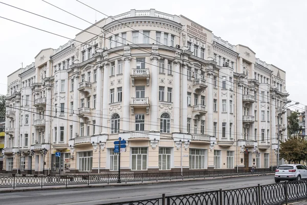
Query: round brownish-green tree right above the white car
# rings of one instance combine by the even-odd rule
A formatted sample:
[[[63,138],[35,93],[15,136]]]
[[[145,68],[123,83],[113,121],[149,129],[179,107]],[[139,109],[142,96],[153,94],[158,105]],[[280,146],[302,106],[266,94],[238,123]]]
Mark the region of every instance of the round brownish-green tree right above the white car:
[[[307,141],[298,134],[288,137],[288,140],[280,143],[279,157],[288,162],[300,163],[307,158]]]

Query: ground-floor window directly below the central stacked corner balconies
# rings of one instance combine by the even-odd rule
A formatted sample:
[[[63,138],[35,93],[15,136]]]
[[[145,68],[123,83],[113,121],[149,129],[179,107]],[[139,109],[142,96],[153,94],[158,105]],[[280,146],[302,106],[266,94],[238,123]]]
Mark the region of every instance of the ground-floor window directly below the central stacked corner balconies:
[[[131,147],[131,170],[147,169],[147,147]]]

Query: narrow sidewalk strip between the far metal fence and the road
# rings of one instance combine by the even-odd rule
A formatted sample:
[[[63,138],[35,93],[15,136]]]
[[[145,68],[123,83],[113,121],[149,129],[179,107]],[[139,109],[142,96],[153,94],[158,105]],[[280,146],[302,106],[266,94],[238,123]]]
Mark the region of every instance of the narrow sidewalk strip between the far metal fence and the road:
[[[195,178],[195,179],[172,179],[172,180],[159,180],[159,181],[135,181],[135,182],[128,182],[125,184],[123,183],[110,183],[110,184],[90,184],[90,185],[60,185],[60,186],[37,186],[37,187],[15,187],[13,189],[12,187],[9,188],[0,188],[0,193],[10,193],[10,192],[24,192],[24,191],[37,191],[37,190],[55,190],[55,189],[77,189],[77,188],[89,188],[89,187],[95,187],[95,188],[102,188],[102,187],[119,187],[119,186],[136,186],[136,185],[145,185],[145,184],[159,184],[159,183],[169,183],[172,181],[197,181],[197,180],[213,180],[213,179],[221,179],[221,178],[233,178],[233,177],[246,177],[246,176],[262,176],[262,175],[273,175],[275,173],[267,173],[267,174],[247,174],[247,175],[233,175],[233,176],[219,176],[219,177],[207,177],[207,178]]]

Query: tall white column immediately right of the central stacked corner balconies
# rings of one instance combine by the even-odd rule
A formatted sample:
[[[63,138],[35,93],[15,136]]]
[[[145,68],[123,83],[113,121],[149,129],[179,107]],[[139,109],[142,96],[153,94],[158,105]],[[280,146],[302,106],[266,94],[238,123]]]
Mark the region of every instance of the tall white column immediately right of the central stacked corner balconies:
[[[162,34],[161,34],[162,35]],[[150,56],[151,59],[151,99],[150,99],[150,131],[158,131],[158,56]]]

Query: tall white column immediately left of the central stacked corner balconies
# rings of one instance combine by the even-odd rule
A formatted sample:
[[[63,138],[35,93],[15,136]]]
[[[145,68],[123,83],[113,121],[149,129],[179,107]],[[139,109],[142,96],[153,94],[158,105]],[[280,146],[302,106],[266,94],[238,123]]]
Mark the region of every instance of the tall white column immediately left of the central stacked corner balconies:
[[[129,130],[130,121],[130,58],[124,59],[124,86],[123,86],[123,130]]]

